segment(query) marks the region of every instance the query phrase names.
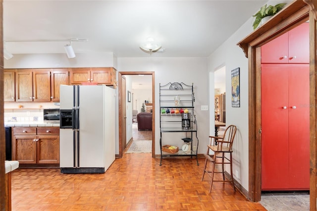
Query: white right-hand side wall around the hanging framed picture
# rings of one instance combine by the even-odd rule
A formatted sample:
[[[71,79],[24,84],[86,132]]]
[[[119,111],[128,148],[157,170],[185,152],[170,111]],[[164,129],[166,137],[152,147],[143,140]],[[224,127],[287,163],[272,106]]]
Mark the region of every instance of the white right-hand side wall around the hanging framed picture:
[[[237,126],[233,144],[233,174],[246,190],[249,190],[248,59],[237,43],[252,31],[252,18],[250,18],[209,57],[210,73],[213,73],[221,64],[225,64],[226,67],[226,125]],[[240,107],[232,107],[231,70],[237,67],[240,67]],[[213,85],[213,74],[210,74],[210,87]],[[210,105],[213,105],[214,99],[210,98],[210,100]],[[210,119],[212,133],[214,132],[214,122],[212,118]],[[227,171],[229,172],[229,169]]]

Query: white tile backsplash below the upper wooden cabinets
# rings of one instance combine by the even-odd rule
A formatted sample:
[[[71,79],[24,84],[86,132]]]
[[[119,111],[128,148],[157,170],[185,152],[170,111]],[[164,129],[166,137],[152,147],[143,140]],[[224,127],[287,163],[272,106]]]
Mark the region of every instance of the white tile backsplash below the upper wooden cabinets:
[[[4,103],[4,122],[43,122],[44,108],[59,108],[54,103]]]

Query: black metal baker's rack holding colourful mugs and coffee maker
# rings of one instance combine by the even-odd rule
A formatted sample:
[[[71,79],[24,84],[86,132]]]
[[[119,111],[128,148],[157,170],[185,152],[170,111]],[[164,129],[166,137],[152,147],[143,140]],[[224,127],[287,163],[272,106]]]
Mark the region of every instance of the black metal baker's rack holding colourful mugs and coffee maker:
[[[177,98],[179,98],[179,105],[175,103],[175,99],[177,100]],[[164,157],[174,156],[196,157],[197,165],[199,165],[197,157],[199,140],[197,137],[197,121],[194,113],[194,102],[195,95],[193,84],[191,86],[186,85],[183,82],[169,82],[166,85],[159,84],[159,165],[162,164],[162,159]],[[190,120],[188,120],[188,122],[190,122],[190,126],[184,126],[183,123],[185,123],[186,120],[183,119],[184,115],[182,113],[187,113],[187,115],[189,114],[188,116],[190,116]],[[184,136],[180,138],[180,141],[190,143],[190,151],[183,152],[182,149],[179,149],[177,153],[167,153],[162,151],[162,146],[168,144],[164,142],[162,136],[165,137],[168,133],[183,133]],[[162,142],[164,144],[162,144]],[[196,147],[196,149],[193,149],[193,147]]]

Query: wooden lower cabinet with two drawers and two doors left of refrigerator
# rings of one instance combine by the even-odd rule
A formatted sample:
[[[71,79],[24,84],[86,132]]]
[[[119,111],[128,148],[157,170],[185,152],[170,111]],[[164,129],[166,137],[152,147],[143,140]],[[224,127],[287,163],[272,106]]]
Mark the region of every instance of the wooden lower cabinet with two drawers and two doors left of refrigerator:
[[[13,127],[12,160],[20,164],[59,164],[58,127]]]

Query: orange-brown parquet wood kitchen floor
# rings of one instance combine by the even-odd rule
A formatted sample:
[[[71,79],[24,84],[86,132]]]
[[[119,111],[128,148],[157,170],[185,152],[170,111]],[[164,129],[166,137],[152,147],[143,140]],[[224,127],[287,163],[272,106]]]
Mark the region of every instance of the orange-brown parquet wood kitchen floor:
[[[204,158],[199,158],[204,163]],[[124,154],[104,174],[61,174],[59,168],[12,172],[13,211],[264,211],[229,183],[201,181],[195,158]]]

